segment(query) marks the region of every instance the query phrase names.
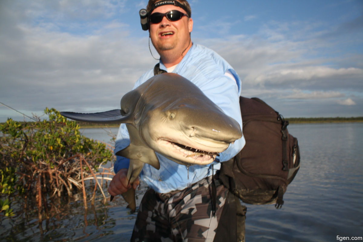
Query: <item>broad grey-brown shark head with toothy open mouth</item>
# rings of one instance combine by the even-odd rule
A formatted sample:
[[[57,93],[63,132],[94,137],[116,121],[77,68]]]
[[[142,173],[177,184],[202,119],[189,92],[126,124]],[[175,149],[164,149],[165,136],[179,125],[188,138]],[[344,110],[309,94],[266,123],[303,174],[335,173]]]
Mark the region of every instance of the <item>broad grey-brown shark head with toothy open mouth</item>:
[[[177,87],[177,88],[176,88]],[[154,151],[179,164],[206,165],[242,137],[238,122],[227,116],[193,83],[177,74],[152,78],[144,91],[139,134]],[[155,100],[154,100],[155,99]]]

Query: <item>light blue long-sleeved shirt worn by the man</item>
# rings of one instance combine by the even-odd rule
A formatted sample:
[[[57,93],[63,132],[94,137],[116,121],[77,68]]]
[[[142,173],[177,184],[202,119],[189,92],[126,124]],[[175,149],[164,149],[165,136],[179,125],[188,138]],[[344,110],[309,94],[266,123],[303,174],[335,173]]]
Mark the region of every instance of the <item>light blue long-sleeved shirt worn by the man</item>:
[[[160,69],[166,70],[166,67],[161,61]],[[240,124],[242,130],[239,104],[241,80],[227,61],[213,50],[193,44],[183,60],[181,60],[172,72],[187,78],[198,86],[225,114],[235,119]],[[226,73],[232,74],[234,79],[225,75]],[[150,69],[136,81],[134,88],[140,86],[153,76],[154,69]],[[121,124],[117,134],[114,152],[120,151],[129,144],[130,138],[126,124]],[[236,140],[234,144],[229,145],[228,149],[219,154],[217,160],[222,162],[231,159],[240,152],[244,145],[244,137]],[[185,165],[175,163],[159,153],[156,153],[156,155],[159,158],[160,169],[158,170],[149,164],[145,164],[140,173],[140,178],[150,188],[159,193],[183,190],[189,184],[211,176],[212,164],[214,164],[214,173],[220,169],[220,163],[216,161],[209,165],[193,165],[187,169]],[[117,156],[114,171],[117,172],[119,169],[129,168],[129,162],[129,159]]]

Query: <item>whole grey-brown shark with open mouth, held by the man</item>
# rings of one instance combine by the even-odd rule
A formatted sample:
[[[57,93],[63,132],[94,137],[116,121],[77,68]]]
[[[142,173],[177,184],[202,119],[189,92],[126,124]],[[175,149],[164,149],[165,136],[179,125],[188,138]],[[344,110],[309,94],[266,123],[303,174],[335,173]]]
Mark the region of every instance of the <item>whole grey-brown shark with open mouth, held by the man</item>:
[[[105,112],[61,115],[81,122],[126,124],[130,145],[115,155],[130,159],[129,184],[139,176],[144,164],[160,168],[156,153],[187,167],[207,165],[242,137],[236,120],[199,87],[175,73],[151,77],[126,93],[120,106]],[[128,208],[135,211],[135,190],[131,188],[122,196]]]

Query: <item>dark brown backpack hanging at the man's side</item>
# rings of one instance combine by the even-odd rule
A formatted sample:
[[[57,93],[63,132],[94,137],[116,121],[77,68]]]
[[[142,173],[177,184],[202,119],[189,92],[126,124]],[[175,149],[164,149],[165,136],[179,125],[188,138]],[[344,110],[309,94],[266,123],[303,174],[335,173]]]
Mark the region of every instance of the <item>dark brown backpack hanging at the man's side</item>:
[[[289,122],[261,99],[240,97],[240,107],[246,145],[221,163],[219,177],[243,202],[281,208],[300,167],[297,139],[287,131]]]

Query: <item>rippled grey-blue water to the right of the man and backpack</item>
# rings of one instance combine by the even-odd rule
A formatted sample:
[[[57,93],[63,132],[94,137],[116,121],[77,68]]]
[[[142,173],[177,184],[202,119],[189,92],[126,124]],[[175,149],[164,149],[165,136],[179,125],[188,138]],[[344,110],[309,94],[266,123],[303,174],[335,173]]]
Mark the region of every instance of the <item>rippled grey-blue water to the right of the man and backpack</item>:
[[[301,168],[281,210],[248,205],[246,241],[363,236],[363,124],[290,124]]]

